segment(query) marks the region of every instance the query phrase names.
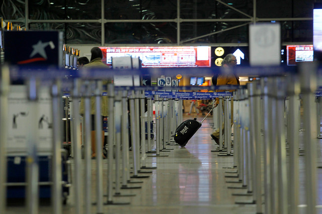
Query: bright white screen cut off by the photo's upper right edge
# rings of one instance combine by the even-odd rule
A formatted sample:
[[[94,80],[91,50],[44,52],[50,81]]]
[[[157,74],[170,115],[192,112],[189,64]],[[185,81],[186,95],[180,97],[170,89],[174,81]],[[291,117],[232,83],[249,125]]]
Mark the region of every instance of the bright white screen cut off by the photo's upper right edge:
[[[316,60],[322,60],[322,3],[314,3],[313,50]]]

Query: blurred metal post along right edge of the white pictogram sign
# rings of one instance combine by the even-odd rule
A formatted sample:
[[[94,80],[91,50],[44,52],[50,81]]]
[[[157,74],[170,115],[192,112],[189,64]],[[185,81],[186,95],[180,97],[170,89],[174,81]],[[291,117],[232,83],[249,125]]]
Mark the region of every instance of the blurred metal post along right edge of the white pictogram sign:
[[[60,115],[60,81],[56,80],[51,87],[51,97],[52,97],[52,196],[51,205],[52,213],[60,214],[61,201],[62,201],[62,169],[61,169],[61,115]]]

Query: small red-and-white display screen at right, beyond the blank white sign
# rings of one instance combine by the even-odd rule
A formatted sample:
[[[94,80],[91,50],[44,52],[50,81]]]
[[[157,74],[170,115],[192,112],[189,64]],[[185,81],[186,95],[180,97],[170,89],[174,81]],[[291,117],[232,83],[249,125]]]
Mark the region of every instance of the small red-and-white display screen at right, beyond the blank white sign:
[[[286,52],[287,65],[313,61],[313,45],[288,45]]]

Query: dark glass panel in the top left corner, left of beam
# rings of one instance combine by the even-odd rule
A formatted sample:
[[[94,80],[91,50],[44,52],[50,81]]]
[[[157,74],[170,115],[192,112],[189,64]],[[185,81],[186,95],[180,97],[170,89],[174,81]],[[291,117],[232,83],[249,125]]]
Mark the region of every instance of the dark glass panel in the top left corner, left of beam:
[[[12,0],[11,4],[0,4],[0,17],[4,20],[25,19],[25,3],[18,0]]]

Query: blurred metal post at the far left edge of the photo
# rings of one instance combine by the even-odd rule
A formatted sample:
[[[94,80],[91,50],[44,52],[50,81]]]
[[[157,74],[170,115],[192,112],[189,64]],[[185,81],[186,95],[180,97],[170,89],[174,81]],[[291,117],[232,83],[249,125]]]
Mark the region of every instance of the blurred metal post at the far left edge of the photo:
[[[8,95],[10,86],[9,67],[0,71],[0,210],[5,212],[7,202],[7,139],[8,139]]]

